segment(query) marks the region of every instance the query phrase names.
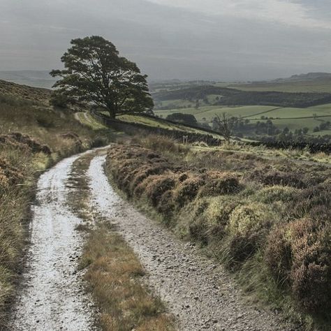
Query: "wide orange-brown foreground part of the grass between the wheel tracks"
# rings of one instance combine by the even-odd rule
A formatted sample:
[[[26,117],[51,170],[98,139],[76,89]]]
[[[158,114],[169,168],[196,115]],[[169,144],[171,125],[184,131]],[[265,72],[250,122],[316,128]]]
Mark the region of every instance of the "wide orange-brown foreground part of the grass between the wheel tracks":
[[[93,230],[84,248],[85,279],[100,309],[102,330],[173,330],[171,318],[141,277],[132,249],[106,225]]]

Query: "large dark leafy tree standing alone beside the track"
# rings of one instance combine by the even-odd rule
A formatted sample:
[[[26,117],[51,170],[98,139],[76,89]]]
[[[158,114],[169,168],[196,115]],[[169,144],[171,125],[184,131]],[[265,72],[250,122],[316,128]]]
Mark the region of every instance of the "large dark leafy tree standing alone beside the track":
[[[64,70],[50,72],[61,77],[53,86],[55,94],[71,102],[98,105],[108,110],[111,118],[152,110],[147,75],[120,57],[115,45],[100,36],[73,39],[71,45],[61,57]]]

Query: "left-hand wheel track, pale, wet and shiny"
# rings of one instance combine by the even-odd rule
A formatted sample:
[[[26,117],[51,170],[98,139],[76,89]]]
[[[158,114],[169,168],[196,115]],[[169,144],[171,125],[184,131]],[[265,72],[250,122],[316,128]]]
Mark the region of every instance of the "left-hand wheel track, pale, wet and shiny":
[[[75,227],[81,220],[66,205],[66,181],[77,158],[61,161],[38,181],[28,265],[10,331],[94,330],[94,311],[76,272],[83,241]]]

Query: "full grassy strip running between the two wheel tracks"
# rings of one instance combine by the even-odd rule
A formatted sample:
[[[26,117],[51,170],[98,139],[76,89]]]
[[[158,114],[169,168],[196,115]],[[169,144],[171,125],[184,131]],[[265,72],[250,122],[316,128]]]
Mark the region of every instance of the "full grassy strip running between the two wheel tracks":
[[[109,220],[91,213],[85,175],[91,157],[83,156],[73,165],[71,184],[75,190],[71,191],[69,202],[84,220],[78,229],[87,235],[80,268],[86,270],[87,290],[98,307],[98,326],[107,331],[174,330],[172,318],[165,313],[159,297],[143,285],[145,270],[135,253]]]

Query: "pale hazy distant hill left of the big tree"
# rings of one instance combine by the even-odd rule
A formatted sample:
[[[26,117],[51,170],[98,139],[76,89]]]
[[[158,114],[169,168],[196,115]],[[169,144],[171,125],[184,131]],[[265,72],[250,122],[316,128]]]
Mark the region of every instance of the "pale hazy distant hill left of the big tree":
[[[56,81],[50,76],[49,71],[0,71],[0,80],[15,82],[17,84],[25,84],[31,87],[52,88]]]

